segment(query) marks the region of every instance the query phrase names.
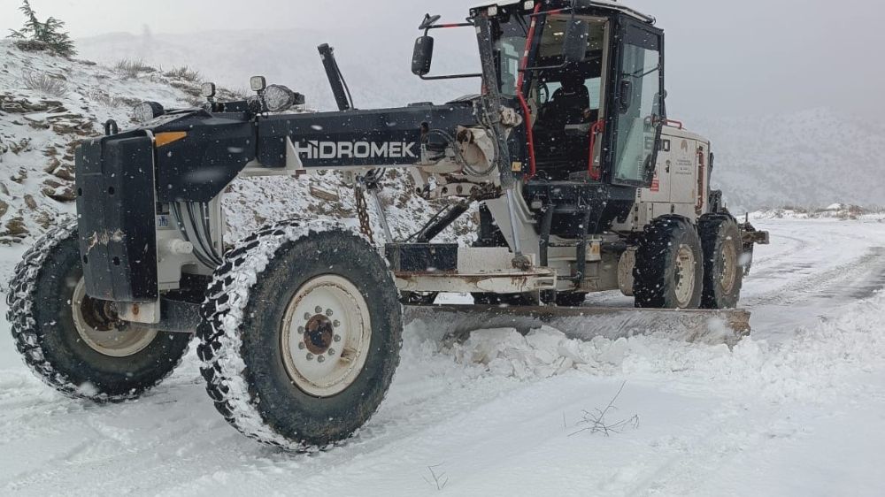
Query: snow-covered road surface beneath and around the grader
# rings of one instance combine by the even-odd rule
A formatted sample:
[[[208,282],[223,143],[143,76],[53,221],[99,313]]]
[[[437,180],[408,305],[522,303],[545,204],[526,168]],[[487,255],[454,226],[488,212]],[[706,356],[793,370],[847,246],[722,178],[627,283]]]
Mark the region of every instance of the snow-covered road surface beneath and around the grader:
[[[758,225],[773,245],[744,286],[753,336],[733,351],[602,340],[596,362],[517,379],[436,352],[437,333],[412,326],[381,410],[319,455],[235,432],[193,356],[141,401],[95,406],[43,386],[4,329],[0,494],[881,495],[885,223]],[[574,434],[625,382],[609,421],[638,424]]]

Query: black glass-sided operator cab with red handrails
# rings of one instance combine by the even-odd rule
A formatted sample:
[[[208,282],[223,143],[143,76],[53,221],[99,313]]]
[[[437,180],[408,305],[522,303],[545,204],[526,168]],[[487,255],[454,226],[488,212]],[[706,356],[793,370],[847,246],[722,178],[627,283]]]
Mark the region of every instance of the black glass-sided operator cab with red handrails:
[[[501,94],[525,99],[530,114],[529,176],[650,184],[665,117],[663,33],[653,19],[586,0],[490,10],[496,13]],[[574,23],[586,40],[584,56],[566,60]]]

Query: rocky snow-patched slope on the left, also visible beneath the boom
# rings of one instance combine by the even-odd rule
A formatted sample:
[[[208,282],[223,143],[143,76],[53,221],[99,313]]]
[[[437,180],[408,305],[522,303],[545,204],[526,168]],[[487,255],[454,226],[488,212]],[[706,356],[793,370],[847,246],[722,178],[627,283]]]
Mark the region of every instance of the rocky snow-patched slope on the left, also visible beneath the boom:
[[[116,119],[132,126],[135,103],[187,107],[199,75],[186,67],[159,70],[136,63],[113,67],[25,52],[0,41],[0,243],[33,240],[59,215],[74,210],[73,151]],[[224,96],[224,95],[222,95]],[[388,172],[381,201],[397,237],[413,233],[438,210],[411,195],[411,179]],[[333,173],[307,179],[237,180],[225,202],[228,228],[240,237],[281,218],[329,217],[355,224],[353,195]],[[373,217],[374,219],[374,217]],[[377,222],[376,222],[377,223]],[[380,227],[375,226],[376,232]],[[463,218],[443,237],[468,237]]]

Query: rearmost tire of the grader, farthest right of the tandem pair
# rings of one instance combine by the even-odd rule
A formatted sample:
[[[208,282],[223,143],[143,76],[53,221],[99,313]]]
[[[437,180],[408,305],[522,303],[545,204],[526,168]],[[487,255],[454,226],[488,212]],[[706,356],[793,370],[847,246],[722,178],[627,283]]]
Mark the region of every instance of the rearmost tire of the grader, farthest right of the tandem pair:
[[[708,216],[700,221],[704,247],[704,309],[734,309],[741,299],[743,244],[741,230],[729,216]]]

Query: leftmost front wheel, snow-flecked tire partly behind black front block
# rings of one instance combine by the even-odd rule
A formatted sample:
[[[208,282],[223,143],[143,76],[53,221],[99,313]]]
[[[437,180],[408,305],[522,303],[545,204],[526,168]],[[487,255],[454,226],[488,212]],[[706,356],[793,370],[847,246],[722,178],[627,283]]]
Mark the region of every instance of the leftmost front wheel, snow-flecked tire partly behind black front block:
[[[16,267],[7,297],[12,338],[35,375],[92,401],[135,399],[157,386],[191,335],[129,330],[85,294],[75,221],[47,233]]]

